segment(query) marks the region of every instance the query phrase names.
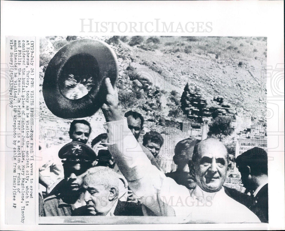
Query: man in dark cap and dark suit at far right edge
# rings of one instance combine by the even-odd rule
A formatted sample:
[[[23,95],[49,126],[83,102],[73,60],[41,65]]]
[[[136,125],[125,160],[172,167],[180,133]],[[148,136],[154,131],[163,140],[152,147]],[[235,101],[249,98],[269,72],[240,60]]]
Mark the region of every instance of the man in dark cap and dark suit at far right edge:
[[[237,156],[237,168],[243,186],[255,200],[255,214],[268,223],[268,157],[264,149],[254,147]]]

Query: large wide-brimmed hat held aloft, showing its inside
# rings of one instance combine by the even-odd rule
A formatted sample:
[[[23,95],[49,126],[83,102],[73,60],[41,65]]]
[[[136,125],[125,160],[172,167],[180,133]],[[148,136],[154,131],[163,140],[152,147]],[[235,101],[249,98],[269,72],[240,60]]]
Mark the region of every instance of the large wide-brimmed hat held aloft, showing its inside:
[[[62,47],[50,60],[42,93],[48,109],[61,118],[93,115],[104,103],[104,79],[114,86],[117,57],[108,44],[80,39]]]

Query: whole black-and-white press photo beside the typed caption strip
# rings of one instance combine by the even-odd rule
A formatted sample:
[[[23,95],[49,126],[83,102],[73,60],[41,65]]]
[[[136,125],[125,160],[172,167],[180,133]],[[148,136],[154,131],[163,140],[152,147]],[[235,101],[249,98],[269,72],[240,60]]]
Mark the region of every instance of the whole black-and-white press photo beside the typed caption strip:
[[[266,37],[39,46],[40,223],[269,222]]]

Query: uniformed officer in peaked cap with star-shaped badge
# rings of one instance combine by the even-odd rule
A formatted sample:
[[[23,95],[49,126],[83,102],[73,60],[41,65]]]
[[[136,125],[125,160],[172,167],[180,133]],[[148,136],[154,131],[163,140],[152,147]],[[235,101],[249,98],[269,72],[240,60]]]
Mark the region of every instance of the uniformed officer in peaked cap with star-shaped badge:
[[[73,210],[85,204],[82,179],[94,166],[94,151],[81,142],[71,142],[60,149],[58,157],[63,159],[64,179],[44,199],[42,216],[71,216]]]

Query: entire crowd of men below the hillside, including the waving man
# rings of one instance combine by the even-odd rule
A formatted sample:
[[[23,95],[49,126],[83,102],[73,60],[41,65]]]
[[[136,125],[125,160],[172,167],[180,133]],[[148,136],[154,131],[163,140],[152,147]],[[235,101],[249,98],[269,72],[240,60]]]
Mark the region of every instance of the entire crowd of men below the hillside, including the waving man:
[[[108,78],[102,106],[107,133],[86,143],[91,125],[74,120],[65,145],[42,149],[40,216],[178,216],[196,223],[268,222],[267,153],[254,147],[236,158],[250,194],[223,186],[230,168],[223,143],[214,138],[184,139],[174,150],[176,171],[162,171],[156,157],[164,140],[144,134],[143,116],[121,116]],[[108,116],[111,115],[111,116]],[[54,175],[46,178],[44,171]],[[48,180],[47,180],[48,179]]]

